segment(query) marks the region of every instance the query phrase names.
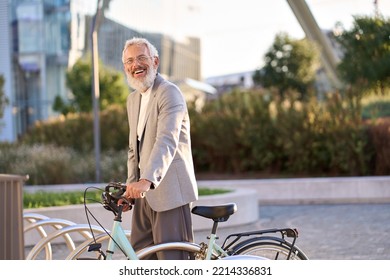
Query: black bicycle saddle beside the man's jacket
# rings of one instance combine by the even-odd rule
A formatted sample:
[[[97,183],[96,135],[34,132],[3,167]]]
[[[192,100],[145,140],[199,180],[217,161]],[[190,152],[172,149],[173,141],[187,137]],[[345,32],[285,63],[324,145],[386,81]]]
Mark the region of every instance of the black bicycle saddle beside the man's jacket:
[[[217,206],[195,206],[192,214],[212,219],[214,222],[225,222],[237,211],[235,203],[228,203]]]

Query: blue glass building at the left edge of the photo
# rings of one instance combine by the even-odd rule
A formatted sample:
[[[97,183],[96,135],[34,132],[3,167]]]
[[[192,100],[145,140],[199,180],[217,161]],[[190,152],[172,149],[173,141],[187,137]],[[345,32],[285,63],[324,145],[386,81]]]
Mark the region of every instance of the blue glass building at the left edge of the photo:
[[[0,141],[15,141],[38,120],[55,115],[57,95],[67,97],[65,73],[83,54],[82,1],[1,0],[8,35],[0,73],[10,101],[1,122]],[[2,51],[3,54],[3,51]]]

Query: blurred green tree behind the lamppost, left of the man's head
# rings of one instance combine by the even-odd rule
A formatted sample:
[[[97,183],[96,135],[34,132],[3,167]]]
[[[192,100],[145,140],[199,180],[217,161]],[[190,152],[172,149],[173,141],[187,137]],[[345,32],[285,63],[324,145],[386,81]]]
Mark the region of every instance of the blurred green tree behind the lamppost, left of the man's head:
[[[123,75],[99,63],[100,108],[106,109],[110,104],[124,104],[127,97],[127,86]],[[69,101],[56,97],[53,110],[64,115],[71,112],[92,111],[92,65],[90,59],[80,59],[66,73],[66,85],[73,96]]]

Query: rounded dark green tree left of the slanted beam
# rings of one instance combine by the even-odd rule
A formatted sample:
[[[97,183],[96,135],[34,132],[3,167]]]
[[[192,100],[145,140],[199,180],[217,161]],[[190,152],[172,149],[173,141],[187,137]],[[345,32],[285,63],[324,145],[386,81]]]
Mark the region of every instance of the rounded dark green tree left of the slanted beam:
[[[315,81],[319,51],[307,39],[293,40],[279,33],[264,60],[265,66],[253,76],[256,84],[275,87],[282,96],[288,89],[297,90],[304,97]]]

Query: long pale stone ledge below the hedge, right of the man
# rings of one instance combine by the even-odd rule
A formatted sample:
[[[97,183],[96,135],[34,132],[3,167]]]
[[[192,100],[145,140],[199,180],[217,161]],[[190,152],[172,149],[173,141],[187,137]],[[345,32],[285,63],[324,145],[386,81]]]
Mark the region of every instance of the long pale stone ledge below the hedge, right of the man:
[[[390,203],[390,176],[210,180],[198,184],[255,190],[260,205]]]

